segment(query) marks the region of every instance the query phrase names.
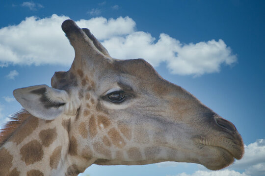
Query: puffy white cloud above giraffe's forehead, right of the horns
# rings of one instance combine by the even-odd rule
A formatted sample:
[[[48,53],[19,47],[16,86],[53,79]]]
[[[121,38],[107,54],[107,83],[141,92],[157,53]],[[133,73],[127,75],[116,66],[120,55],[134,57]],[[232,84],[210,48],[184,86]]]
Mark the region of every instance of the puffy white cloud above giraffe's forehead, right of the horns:
[[[202,75],[220,71],[222,64],[231,65],[237,57],[222,41],[181,44],[167,34],[158,42],[149,33],[133,32],[126,37],[113,37],[103,42],[116,58],[144,58],[153,66],[166,62],[172,74]]]

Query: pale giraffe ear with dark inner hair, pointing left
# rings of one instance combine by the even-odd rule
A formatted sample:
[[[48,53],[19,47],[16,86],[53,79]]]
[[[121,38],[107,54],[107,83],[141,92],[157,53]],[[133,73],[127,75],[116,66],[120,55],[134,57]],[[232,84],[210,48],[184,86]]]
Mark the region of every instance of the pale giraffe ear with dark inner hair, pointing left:
[[[65,90],[51,88],[47,85],[18,88],[14,97],[29,113],[35,117],[53,120],[65,110],[69,95]]]

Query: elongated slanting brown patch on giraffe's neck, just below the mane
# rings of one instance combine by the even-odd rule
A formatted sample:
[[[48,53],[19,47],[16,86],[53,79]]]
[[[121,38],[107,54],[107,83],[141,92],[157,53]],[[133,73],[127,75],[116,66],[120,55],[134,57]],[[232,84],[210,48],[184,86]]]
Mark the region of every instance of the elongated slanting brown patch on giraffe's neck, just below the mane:
[[[34,116],[29,116],[25,125],[21,127],[21,130],[13,135],[12,141],[20,144],[29,134],[31,134],[39,126],[39,119]]]

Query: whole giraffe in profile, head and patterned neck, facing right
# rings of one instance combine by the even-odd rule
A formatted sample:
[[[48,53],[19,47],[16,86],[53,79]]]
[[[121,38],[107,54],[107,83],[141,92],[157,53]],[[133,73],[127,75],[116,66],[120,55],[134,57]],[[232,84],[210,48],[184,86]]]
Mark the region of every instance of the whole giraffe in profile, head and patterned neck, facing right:
[[[0,133],[0,176],[77,176],[91,164],[191,162],[219,170],[240,159],[236,127],[143,59],[118,60],[72,20],[75,50],[51,85],[18,88],[24,108]]]

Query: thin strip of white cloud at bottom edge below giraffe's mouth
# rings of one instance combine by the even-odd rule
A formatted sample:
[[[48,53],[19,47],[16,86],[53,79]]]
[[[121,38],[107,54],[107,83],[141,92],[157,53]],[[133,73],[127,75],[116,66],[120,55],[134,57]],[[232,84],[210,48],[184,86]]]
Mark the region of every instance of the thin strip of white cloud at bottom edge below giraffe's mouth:
[[[196,171],[195,173],[189,175],[186,173],[181,173],[176,176],[250,176],[245,173],[239,173],[236,171],[231,171],[228,169],[221,171]]]

